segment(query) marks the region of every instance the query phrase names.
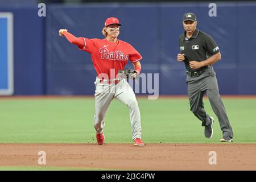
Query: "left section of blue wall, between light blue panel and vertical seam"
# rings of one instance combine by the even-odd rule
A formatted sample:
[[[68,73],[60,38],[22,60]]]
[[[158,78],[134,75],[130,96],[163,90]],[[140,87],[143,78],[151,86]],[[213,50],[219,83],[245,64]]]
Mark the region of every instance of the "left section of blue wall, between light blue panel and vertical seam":
[[[14,94],[44,94],[45,27],[38,7],[1,6],[0,12],[13,13]]]

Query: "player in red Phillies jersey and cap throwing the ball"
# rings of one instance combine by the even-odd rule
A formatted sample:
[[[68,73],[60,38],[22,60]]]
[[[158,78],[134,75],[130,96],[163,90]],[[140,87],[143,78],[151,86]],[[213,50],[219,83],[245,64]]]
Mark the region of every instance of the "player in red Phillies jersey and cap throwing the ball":
[[[94,128],[99,145],[104,143],[104,118],[113,98],[126,104],[130,111],[131,133],[135,146],[144,146],[141,140],[141,114],[133,89],[121,77],[119,71],[123,71],[127,61],[134,65],[134,73],[131,77],[138,77],[141,72],[140,60],[142,56],[129,43],[117,39],[121,23],[115,17],[106,19],[102,34],[105,39],[77,38],[66,29],[60,29],[59,35],[65,36],[69,42],[78,46],[82,51],[92,55],[93,66],[97,77],[94,84],[95,90],[95,115]]]

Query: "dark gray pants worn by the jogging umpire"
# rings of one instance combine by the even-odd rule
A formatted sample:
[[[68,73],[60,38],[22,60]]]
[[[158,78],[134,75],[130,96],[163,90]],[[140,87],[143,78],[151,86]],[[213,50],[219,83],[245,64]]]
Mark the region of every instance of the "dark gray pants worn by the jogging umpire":
[[[207,126],[210,122],[209,115],[204,110],[203,96],[205,92],[209,98],[210,105],[220,123],[223,137],[233,137],[228,115],[218,92],[216,73],[212,68],[208,68],[199,77],[187,75],[188,97],[191,111],[202,121],[202,126]]]

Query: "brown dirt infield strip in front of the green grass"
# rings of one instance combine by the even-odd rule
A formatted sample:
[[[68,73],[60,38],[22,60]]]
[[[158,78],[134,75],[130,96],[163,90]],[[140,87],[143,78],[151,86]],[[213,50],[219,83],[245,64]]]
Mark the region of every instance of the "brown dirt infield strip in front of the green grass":
[[[0,166],[121,170],[256,170],[256,144],[0,144]],[[209,164],[215,151],[217,164]]]

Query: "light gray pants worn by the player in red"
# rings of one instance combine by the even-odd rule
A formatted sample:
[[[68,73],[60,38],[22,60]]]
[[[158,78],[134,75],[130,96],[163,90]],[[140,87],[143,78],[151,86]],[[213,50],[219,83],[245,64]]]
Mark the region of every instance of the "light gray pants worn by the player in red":
[[[94,84],[95,90],[95,115],[94,115],[94,128],[98,134],[103,133],[104,118],[106,111],[113,98],[117,98],[129,108],[130,122],[131,122],[131,135],[133,140],[141,138],[141,114],[139,111],[138,102],[136,100],[133,89],[124,78],[120,78],[117,84],[109,84],[100,82],[97,77]],[[117,110],[118,112],[118,110]],[[121,125],[121,123],[120,123]]]

